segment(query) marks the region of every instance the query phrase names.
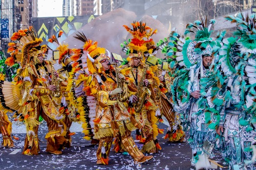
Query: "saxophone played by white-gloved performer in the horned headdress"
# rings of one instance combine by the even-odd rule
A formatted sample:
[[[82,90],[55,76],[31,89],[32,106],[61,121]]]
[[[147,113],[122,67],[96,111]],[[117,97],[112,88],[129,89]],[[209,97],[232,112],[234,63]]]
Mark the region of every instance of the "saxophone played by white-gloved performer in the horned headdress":
[[[117,88],[118,87],[122,88],[122,93],[118,93],[118,100],[120,102],[125,102],[128,99],[128,83],[129,82],[119,79],[120,68],[118,68],[117,64],[115,64],[115,66],[116,66]]]

